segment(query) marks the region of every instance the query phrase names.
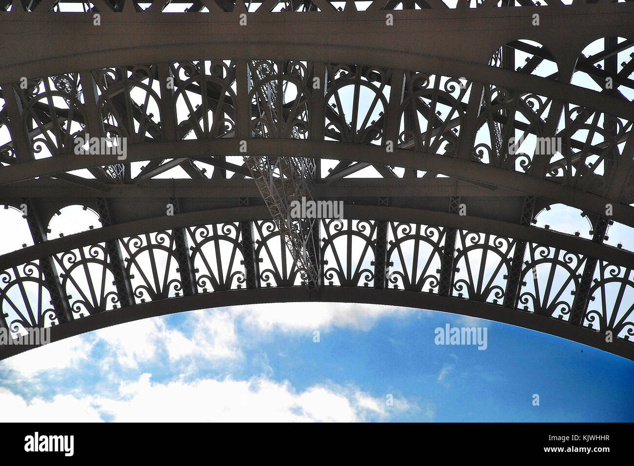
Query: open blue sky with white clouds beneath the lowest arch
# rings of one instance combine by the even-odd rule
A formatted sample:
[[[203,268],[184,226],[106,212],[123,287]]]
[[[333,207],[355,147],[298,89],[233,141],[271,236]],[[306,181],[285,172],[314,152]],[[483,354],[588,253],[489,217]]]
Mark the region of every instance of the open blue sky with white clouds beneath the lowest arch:
[[[486,350],[434,344],[447,323],[486,327]],[[0,361],[0,403],[12,406],[0,422],[632,422],[633,386],[633,361],[510,325],[266,304],[127,323]]]

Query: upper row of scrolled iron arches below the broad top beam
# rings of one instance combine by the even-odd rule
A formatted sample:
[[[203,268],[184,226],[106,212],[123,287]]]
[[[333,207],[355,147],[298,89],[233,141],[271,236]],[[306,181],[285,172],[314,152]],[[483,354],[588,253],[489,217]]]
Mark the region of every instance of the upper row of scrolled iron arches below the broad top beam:
[[[246,72],[247,82],[238,79],[238,68]],[[634,73],[631,65],[619,73],[625,75],[630,68]],[[173,86],[160,85],[167,79]],[[634,192],[628,174],[633,157],[631,146],[626,147],[634,125],[631,113],[599,110],[581,100],[561,101],[531,89],[465,77],[335,63],[322,67],[309,61],[258,60],[238,65],[203,60],[104,68],[28,84],[26,90],[19,83],[13,85],[30,138],[30,152],[21,156],[24,162],[76,153],[75,138],[87,135],[122,137],[128,145],[235,139],[236,155],[238,142],[250,138],[323,138],[472,160],[623,204],[631,203]],[[95,104],[86,99],[94,99]],[[90,108],[98,112],[96,120]],[[316,108],[320,111],[313,115]],[[240,122],[239,115],[248,121]],[[245,134],[250,136],[238,137],[241,125],[248,126]],[[465,132],[465,127],[475,131]],[[321,136],[314,133],[319,129]],[[11,146],[6,163],[14,162],[15,148],[10,143],[5,146]],[[178,159],[165,154],[140,169],[140,162],[133,162],[132,169],[120,163],[95,167],[87,154],[81,170],[62,178],[129,184],[164,176],[176,166],[184,169],[185,178],[224,178],[224,171],[235,173],[236,178],[249,177],[245,163],[233,154]],[[214,170],[206,173],[201,163]],[[353,174],[368,165],[342,160],[327,178],[357,176]],[[372,165],[382,178],[426,176],[426,171],[399,168],[398,159],[391,165]],[[20,174],[15,176],[19,179]],[[620,179],[619,188],[608,183],[614,178]]]

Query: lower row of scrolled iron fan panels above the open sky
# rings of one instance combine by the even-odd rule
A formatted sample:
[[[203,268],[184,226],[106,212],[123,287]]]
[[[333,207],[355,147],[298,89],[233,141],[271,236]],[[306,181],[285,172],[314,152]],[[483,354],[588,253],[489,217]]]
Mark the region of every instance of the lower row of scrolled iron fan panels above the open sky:
[[[323,287],[390,288],[421,296],[440,294],[441,262],[449,251],[446,238],[452,228],[389,221],[383,230],[381,223],[363,219],[320,222]],[[249,228],[254,231],[250,240],[238,222],[186,228],[191,245],[186,260],[194,266],[197,283],[194,294],[301,287],[295,262],[273,221],[245,224],[251,225]],[[175,243],[179,240],[174,231],[116,240],[127,263],[126,280],[131,283],[137,304],[191,294],[183,288],[184,270],[178,266]],[[563,321],[571,318],[587,257],[573,250],[530,242],[526,252],[517,256],[515,249],[521,242],[515,238],[463,229],[455,231],[455,249],[450,252],[453,259],[451,295],[455,299],[502,306],[509,290],[510,269],[513,262],[519,260],[522,266],[517,307],[508,312],[527,311]],[[383,241],[387,247],[381,246]],[[385,282],[378,279],[382,274],[377,271],[380,264],[377,251],[384,251],[381,254],[387,259],[389,279]],[[249,254],[254,254],[251,267],[257,269],[257,279],[250,285],[245,280],[252,272],[245,261]],[[75,320],[109,312],[121,304],[119,291],[104,285],[112,283],[114,273],[105,256],[103,243],[56,254],[56,263],[63,271],[60,283],[65,290],[72,290],[68,300]],[[601,332],[611,330],[619,339],[631,337],[634,331],[631,275],[632,268],[600,261],[590,290],[592,304],[583,316],[583,326]],[[18,333],[20,328],[55,322],[55,310],[49,305],[42,268],[37,261],[5,269],[0,282],[3,327]],[[65,325],[63,320],[60,325]]]

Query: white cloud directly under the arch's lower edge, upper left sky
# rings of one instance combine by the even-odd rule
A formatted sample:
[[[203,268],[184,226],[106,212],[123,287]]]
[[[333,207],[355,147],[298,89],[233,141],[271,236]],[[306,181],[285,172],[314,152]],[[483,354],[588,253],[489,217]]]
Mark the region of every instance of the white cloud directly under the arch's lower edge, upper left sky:
[[[167,317],[143,319],[102,328],[78,335],[0,361],[0,368],[14,369],[23,377],[33,377],[45,370],[59,371],[76,367],[89,359],[92,347],[108,345],[100,364],[109,368],[117,361],[124,368],[138,369],[138,364],[157,359],[164,349],[169,361],[204,358],[214,364],[230,363],[242,358],[236,333],[236,319],[242,320],[252,333],[303,332],[332,328],[351,328],[368,332],[383,318],[406,317],[421,313],[406,307],[385,307],[346,303],[277,303],[206,309],[186,314],[181,332],[167,325]],[[191,335],[188,337],[187,335]],[[190,367],[193,370],[193,367]]]

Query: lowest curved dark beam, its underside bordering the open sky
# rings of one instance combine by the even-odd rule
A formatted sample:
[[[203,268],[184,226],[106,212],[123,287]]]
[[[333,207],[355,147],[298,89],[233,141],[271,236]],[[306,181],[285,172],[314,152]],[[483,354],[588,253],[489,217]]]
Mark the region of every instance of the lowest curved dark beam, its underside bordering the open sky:
[[[623,339],[614,339],[613,342],[608,343],[605,342],[605,335],[602,333],[593,332],[588,328],[569,325],[566,321],[538,316],[533,313],[510,312],[506,307],[486,302],[475,302],[427,293],[405,292],[403,290],[380,290],[370,287],[323,287],[320,288],[319,295],[310,294],[305,287],[264,287],[256,290],[232,290],[163,299],[137,304],[134,309],[115,309],[77,319],[64,325],[58,325],[51,331],[51,342],[81,335],[99,328],[110,327],[111,325],[183,311],[193,311],[195,309],[268,302],[306,301],[356,302],[382,304],[384,306],[404,306],[470,316],[548,333],[634,360],[634,344],[631,342]],[[177,302],[178,304],[176,304]],[[23,345],[1,346],[0,359],[8,358],[29,349],[31,347]]]

